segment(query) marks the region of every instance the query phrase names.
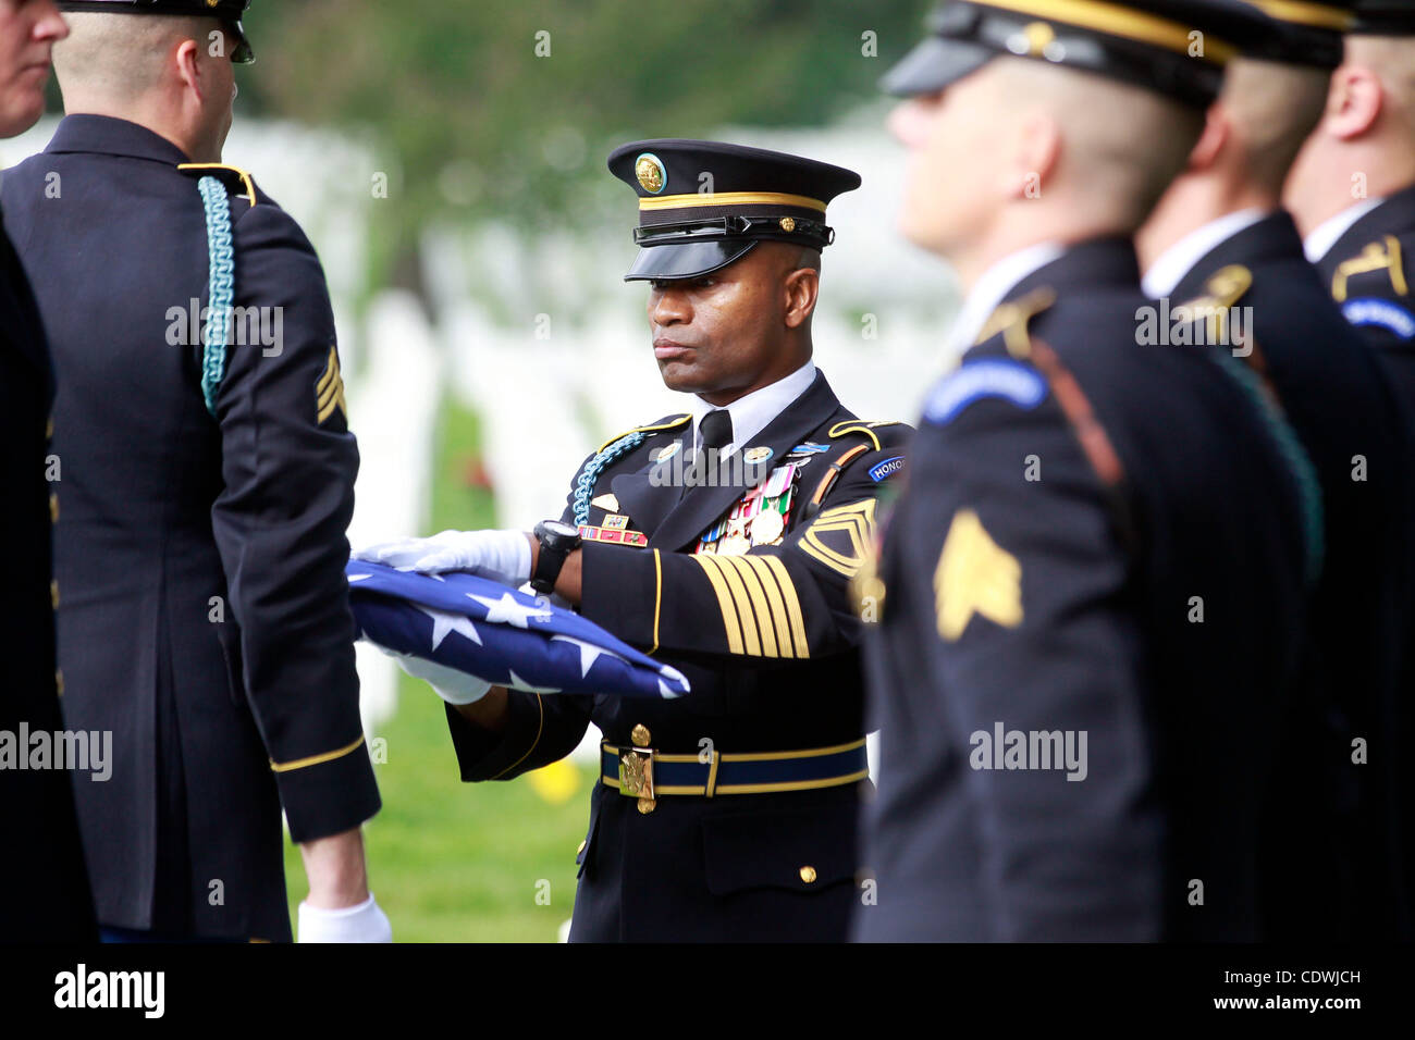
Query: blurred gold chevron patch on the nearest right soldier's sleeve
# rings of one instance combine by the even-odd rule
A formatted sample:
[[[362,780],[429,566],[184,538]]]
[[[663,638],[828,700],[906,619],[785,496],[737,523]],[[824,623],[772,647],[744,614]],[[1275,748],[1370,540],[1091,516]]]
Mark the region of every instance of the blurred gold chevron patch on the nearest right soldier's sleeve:
[[[974,614],[1002,625],[1022,624],[1022,565],[992,541],[972,509],[959,509],[934,570],[938,634],[955,642]]]

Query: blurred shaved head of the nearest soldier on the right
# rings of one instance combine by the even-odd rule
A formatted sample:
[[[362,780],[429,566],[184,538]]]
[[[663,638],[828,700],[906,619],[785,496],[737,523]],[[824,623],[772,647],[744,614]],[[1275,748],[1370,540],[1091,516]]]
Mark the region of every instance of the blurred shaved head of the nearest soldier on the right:
[[[1182,168],[1197,110],[1092,72],[1000,57],[890,117],[904,235],[965,286],[1037,242],[1128,235]]]

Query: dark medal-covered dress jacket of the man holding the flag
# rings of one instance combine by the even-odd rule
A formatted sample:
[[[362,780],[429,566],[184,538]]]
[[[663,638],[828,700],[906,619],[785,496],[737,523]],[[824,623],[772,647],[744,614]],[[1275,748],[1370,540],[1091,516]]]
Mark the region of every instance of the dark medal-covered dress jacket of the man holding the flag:
[[[586,541],[584,617],[679,668],[679,700],[511,695],[505,730],[488,734],[454,710],[449,722],[463,780],[509,780],[572,751],[594,723],[604,740],[658,753],[723,756],[852,744],[863,737],[860,621],[849,582],[873,529],[876,497],[901,466],[899,423],[856,419],[825,376],[750,446],[766,467],[801,463],[778,545],[750,553],[692,553],[743,497],[743,487],[655,487],[654,460],[692,449],[691,416],[641,427],[586,495],[596,533],[647,545]],[[569,522],[586,460],[572,483]],[[832,467],[838,478],[805,508]],[[606,526],[608,525],[608,526]],[[635,740],[635,729],[641,740]],[[613,763],[613,758],[611,758]],[[839,787],[717,797],[665,795],[651,812],[594,785],[579,852],[573,941],[841,941],[860,893],[856,814],[860,780]]]

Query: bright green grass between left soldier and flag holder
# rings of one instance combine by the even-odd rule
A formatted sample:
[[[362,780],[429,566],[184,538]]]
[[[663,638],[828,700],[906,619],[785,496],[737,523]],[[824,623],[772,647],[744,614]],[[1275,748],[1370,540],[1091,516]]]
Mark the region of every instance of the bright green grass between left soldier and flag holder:
[[[444,402],[430,531],[494,524],[491,492],[467,485],[481,436],[474,413]],[[574,850],[593,770],[560,763],[505,784],[463,784],[441,700],[402,676],[398,710],[374,734],[383,811],[364,828],[369,887],[399,942],[553,942],[574,906]],[[542,794],[541,790],[546,794]],[[290,914],[307,891],[286,849]]]

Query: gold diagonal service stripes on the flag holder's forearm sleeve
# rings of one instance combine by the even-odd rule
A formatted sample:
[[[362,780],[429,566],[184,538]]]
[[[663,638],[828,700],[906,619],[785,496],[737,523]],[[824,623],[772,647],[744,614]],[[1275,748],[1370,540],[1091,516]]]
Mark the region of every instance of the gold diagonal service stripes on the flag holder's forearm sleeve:
[[[791,574],[775,556],[696,553],[717,594],[727,649],[747,657],[808,658],[805,617]]]

